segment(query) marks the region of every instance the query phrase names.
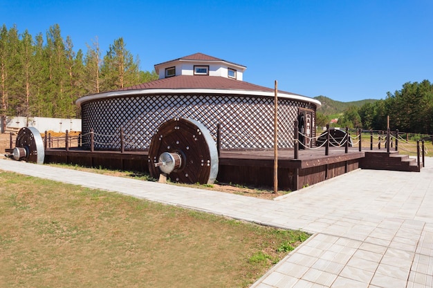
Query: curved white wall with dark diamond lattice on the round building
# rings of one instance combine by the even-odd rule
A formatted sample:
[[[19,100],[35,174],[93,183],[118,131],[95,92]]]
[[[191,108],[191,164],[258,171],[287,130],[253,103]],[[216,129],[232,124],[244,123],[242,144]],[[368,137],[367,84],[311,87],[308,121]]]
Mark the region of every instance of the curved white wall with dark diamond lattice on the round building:
[[[293,148],[293,122],[300,107],[315,111],[315,106],[306,102],[278,100],[279,148]],[[160,124],[183,117],[201,122],[214,139],[220,123],[223,149],[273,148],[273,115],[272,97],[137,95],[98,99],[82,104],[83,146],[90,148],[88,133],[93,128],[95,149],[119,149],[123,127],[125,149],[145,150]]]

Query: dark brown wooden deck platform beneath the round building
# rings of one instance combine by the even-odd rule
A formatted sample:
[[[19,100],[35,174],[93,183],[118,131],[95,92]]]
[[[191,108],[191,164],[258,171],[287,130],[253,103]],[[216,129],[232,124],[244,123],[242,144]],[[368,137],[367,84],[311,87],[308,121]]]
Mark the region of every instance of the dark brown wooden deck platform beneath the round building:
[[[342,175],[360,168],[365,152],[357,148],[330,148],[329,155],[324,149],[301,150],[299,159],[293,158],[293,151],[278,152],[279,189],[297,190],[316,184],[331,177]],[[49,148],[45,161],[104,167],[129,171],[148,171],[147,151],[84,151],[79,148]],[[217,180],[257,188],[273,186],[273,151],[222,151],[219,157]]]

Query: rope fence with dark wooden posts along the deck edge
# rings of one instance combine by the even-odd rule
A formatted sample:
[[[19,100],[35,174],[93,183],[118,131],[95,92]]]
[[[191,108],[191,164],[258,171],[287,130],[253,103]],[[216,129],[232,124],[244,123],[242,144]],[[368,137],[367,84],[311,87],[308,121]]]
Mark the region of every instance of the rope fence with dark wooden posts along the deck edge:
[[[359,151],[362,151],[362,135],[369,133],[370,141],[369,141],[369,150],[372,151],[374,148],[381,150],[383,147],[386,148],[387,153],[390,153],[391,148],[395,148],[395,151],[399,149],[401,151],[405,151],[407,153],[414,153],[417,155],[417,158],[423,158],[426,154],[428,154],[428,149],[425,146],[426,137],[422,138],[421,141],[416,141],[416,144],[409,141],[409,138],[412,138],[413,135],[409,133],[399,133],[398,131],[362,131],[361,129],[356,130],[356,136],[352,136],[349,133],[349,128],[346,128],[346,131],[340,131],[340,129],[330,128],[329,125],[326,125],[326,131],[322,133],[320,136],[311,137],[301,133],[299,131],[297,120],[294,122],[294,133],[293,133],[293,150],[294,150],[294,158],[295,160],[299,159],[299,150],[312,150],[317,151],[321,148],[325,148],[325,155],[329,155],[329,148],[342,148],[344,147],[344,153],[348,153],[349,146],[354,147],[358,146]],[[344,135],[342,137],[335,137],[333,135],[335,130],[338,130],[340,135]],[[228,133],[233,137],[232,133]],[[225,135],[225,133],[224,133]],[[261,137],[270,137],[272,133],[245,133],[242,135],[242,139],[251,139]],[[403,136],[406,136],[405,138]],[[116,149],[111,150],[120,150],[122,153],[125,152],[125,147],[127,150],[142,150],[146,147],[143,147],[143,143],[151,140],[152,135],[132,135],[125,134],[123,128],[119,129],[119,133],[115,134],[100,134],[95,133],[93,129],[91,129],[90,133],[68,133],[66,131],[66,135],[56,136],[54,137],[50,133],[45,132],[44,135],[44,146],[45,148],[66,148],[68,151],[71,147],[82,147],[82,146],[90,146],[90,150],[93,151],[95,149],[95,145],[98,148],[110,148],[110,147],[118,147]],[[410,137],[409,137],[410,136]],[[430,137],[430,135],[428,135]],[[98,140],[95,140],[95,137]],[[223,137],[223,133],[221,133],[221,124],[217,125],[216,131],[216,145],[219,153],[221,153],[221,137]],[[322,138],[322,142],[318,141]],[[85,140],[85,141],[83,141]],[[286,143],[286,142],[285,142]],[[315,146],[313,147],[313,144]],[[433,136],[432,136],[433,143]],[[364,142],[365,144],[365,142]],[[419,161],[418,161],[419,165]]]

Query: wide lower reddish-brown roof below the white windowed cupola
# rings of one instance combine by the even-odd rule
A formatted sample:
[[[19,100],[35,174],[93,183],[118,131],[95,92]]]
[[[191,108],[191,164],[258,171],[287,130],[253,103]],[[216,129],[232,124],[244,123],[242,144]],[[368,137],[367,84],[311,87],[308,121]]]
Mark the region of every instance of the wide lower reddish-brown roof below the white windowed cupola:
[[[207,75],[179,75],[158,79],[143,84],[134,85],[120,90],[140,90],[140,89],[218,89],[218,90],[246,90],[273,92],[273,88],[267,88],[246,81],[239,81],[225,77],[212,77]],[[281,93],[288,93],[279,91]],[[299,95],[289,93],[291,95]],[[302,96],[302,95],[299,95]]]

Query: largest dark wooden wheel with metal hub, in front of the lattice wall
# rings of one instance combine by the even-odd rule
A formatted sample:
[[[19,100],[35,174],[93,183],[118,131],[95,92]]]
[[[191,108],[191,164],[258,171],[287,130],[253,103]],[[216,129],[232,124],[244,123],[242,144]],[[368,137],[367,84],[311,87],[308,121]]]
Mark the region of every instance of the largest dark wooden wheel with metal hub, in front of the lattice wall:
[[[209,131],[193,119],[175,118],[158,127],[149,146],[149,172],[182,183],[212,184],[218,151]]]

